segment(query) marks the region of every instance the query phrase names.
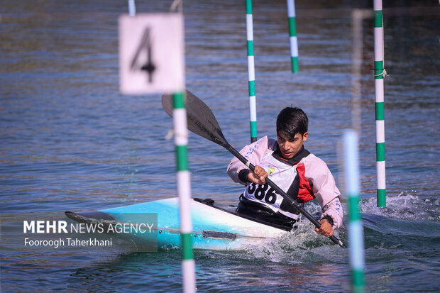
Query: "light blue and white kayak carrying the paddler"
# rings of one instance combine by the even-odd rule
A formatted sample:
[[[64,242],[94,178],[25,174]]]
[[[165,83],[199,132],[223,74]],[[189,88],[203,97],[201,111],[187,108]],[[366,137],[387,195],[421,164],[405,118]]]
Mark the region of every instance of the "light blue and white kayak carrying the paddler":
[[[211,199],[194,199],[190,204],[192,219],[192,245],[196,249],[242,250],[279,238],[290,229],[258,219],[251,219],[214,205]],[[143,215],[157,214],[153,227],[158,248],[179,248],[180,219],[178,198],[160,199],[130,206],[101,211],[75,213],[66,211],[70,219],[80,223],[141,223]],[[123,238],[141,243],[151,239],[151,233],[123,233]],[[143,239],[145,238],[145,239]],[[155,238],[156,239],[156,238]]]

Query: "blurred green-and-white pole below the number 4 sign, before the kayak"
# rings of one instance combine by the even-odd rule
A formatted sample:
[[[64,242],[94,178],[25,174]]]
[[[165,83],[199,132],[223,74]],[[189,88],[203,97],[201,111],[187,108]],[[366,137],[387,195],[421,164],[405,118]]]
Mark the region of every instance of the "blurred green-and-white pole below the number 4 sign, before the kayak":
[[[183,292],[196,291],[195,262],[192,255],[192,223],[191,223],[191,183],[188,169],[188,128],[187,110],[183,92],[172,95],[173,130],[177,161],[177,194],[180,207],[180,233],[182,237],[182,280]]]

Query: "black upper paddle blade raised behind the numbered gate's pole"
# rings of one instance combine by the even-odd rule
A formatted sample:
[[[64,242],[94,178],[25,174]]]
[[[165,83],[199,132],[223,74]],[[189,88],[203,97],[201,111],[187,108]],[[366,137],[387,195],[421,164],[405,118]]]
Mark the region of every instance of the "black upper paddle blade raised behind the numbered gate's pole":
[[[223,136],[219,123],[211,109],[204,102],[185,90],[185,105],[187,110],[187,127],[189,131],[211,140],[217,145],[226,148],[229,143]],[[165,112],[172,117],[172,95],[163,94],[162,106]]]

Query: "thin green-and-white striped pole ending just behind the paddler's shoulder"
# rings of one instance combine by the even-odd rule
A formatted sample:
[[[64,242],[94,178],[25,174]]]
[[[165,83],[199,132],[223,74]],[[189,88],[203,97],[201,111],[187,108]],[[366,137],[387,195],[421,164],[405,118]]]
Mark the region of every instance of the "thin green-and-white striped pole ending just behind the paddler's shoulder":
[[[248,40],[249,111],[251,112],[251,143],[257,141],[257,101],[255,97],[255,62],[253,58],[252,0],[246,0],[246,35]]]

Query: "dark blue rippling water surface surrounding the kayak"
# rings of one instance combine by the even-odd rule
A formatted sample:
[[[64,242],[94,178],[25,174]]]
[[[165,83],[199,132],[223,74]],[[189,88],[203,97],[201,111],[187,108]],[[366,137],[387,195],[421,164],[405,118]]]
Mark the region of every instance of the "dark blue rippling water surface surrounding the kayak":
[[[143,2],[138,12],[168,11],[172,1]],[[280,109],[301,107],[310,119],[307,149],[327,162],[343,189],[339,140],[352,126],[354,104],[351,9],[372,4],[300,2],[295,75],[285,1],[253,3],[258,136],[275,136]],[[409,9],[413,3],[436,6]],[[384,9],[390,76],[382,209],[375,201],[373,20],[363,21],[358,118],[365,286],[368,292],[439,292],[439,8],[429,1],[392,5],[407,8]],[[65,210],[176,196],[174,143],[166,139],[172,121],[160,94],[119,94],[117,18],[127,11],[126,1],[2,1],[3,221],[65,219]],[[229,143],[241,148],[250,138],[244,1],[184,1],[184,13],[187,88],[214,111]],[[192,195],[236,204],[241,187],[226,175],[229,160],[226,150],[191,134]],[[312,202],[307,209],[317,214],[319,206]],[[346,241],[345,228],[339,237]],[[179,292],[180,253],[35,252],[5,244],[1,291]],[[350,291],[348,251],[305,221],[269,245],[197,250],[194,258],[199,292]]]

